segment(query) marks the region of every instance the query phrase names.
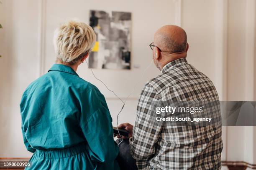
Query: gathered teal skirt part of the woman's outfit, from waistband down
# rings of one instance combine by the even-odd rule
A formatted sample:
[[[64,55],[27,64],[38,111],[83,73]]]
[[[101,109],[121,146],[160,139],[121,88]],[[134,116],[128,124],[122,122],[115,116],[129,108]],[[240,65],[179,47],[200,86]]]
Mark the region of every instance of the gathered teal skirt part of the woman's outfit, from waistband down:
[[[70,148],[56,150],[36,150],[29,160],[30,166],[25,170],[105,170],[119,169],[93,163],[87,154],[85,143]],[[113,166],[111,165],[111,166]],[[117,167],[115,167],[117,166]]]

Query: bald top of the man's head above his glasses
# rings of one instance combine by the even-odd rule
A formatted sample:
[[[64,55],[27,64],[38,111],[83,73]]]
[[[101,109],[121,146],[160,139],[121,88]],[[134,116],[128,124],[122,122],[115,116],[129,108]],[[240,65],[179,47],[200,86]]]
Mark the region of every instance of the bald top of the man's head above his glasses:
[[[165,25],[156,31],[154,45],[163,52],[184,52],[187,47],[187,34],[176,25]]]

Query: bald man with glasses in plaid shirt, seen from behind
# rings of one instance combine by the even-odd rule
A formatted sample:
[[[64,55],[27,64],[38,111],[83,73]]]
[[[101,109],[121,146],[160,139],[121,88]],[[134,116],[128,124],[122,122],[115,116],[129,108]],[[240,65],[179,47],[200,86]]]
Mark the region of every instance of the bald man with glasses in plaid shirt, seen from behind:
[[[131,158],[125,158],[129,153],[125,153],[127,150],[124,148],[129,143],[132,157],[140,170],[220,170],[221,126],[158,124],[151,114],[155,101],[219,102],[212,81],[186,60],[189,49],[186,32],[175,25],[161,27],[150,47],[154,64],[161,74],[144,85],[138,100],[135,126],[129,123],[119,126],[129,132],[129,140],[120,144],[120,167],[136,169]],[[215,110],[215,114],[220,116],[220,108]]]

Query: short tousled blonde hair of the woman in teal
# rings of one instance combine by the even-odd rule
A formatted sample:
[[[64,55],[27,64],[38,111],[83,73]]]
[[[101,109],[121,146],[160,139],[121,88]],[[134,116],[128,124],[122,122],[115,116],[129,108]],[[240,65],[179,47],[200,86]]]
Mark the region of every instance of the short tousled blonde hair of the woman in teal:
[[[54,32],[54,49],[57,60],[75,64],[86,55],[96,41],[93,29],[85,23],[69,20]]]

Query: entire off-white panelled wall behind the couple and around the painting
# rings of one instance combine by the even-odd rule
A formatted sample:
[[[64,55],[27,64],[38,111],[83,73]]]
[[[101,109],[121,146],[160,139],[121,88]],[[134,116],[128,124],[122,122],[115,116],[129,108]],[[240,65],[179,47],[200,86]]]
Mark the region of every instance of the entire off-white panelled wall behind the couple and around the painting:
[[[132,13],[132,69],[94,70],[124,99],[138,80],[119,122],[134,123],[143,84],[160,72],[151,65],[154,32],[166,24],[181,25],[189,43],[187,60],[214,82],[221,100],[255,100],[254,0],[1,0],[0,23],[0,157],[26,157],[20,132],[19,102],[23,90],[54,63],[53,31],[64,20],[89,22],[89,10]],[[133,68],[138,64],[140,68]],[[122,106],[88,70],[78,74],[105,95],[113,125]],[[256,163],[255,128],[223,127],[223,160]],[[248,139],[248,140],[245,140]],[[235,148],[235,149],[234,149]],[[252,148],[252,149],[251,149]],[[241,154],[242,153],[242,154]]]

